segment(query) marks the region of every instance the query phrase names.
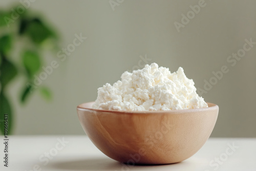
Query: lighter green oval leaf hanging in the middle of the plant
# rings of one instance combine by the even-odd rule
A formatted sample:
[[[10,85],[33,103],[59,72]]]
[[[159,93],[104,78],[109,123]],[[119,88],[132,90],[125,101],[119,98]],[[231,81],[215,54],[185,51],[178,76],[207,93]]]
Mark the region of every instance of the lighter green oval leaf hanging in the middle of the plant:
[[[22,54],[22,60],[28,77],[32,78],[41,67],[41,61],[38,53],[27,50]]]

